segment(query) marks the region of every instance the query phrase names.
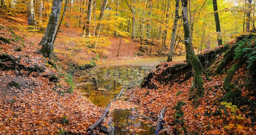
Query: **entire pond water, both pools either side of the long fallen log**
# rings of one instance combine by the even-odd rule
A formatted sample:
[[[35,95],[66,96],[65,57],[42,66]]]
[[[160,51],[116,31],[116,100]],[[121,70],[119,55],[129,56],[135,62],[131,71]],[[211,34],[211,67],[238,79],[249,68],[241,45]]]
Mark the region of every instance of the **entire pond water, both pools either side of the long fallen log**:
[[[80,73],[76,78],[77,87],[94,105],[106,108],[114,100],[122,87],[134,87],[154,67],[117,66],[112,68],[92,68]],[[114,109],[108,119],[109,135],[153,135],[155,127],[141,120],[136,108]]]

